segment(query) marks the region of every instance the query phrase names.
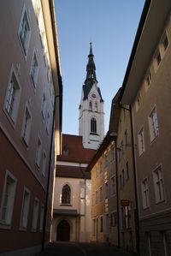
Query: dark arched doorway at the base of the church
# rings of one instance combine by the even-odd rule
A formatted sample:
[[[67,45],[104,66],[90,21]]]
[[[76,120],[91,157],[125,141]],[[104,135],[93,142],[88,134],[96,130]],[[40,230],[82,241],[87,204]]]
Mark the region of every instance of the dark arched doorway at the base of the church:
[[[69,241],[70,240],[70,225],[66,220],[62,220],[57,225],[57,241]]]

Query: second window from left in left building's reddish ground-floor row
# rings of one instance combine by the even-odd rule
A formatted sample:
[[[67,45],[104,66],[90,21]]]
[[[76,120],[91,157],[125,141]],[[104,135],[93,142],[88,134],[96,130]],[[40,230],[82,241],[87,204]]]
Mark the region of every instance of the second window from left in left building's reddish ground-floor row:
[[[30,205],[30,192],[27,188],[25,188],[23,199],[22,199],[21,229],[27,229],[29,205]]]

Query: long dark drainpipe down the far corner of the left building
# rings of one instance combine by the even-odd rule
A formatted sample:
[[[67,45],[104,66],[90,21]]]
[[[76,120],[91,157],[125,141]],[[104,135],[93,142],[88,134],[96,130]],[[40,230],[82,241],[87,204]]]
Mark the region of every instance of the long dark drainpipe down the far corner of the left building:
[[[45,228],[46,228],[46,219],[48,216],[48,197],[49,197],[49,190],[50,190],[51,156],[52,156],[52,151],[53,151],[53,140],[54,140],[55,118],[56,118],[56,98],[60,98],[60,97],[62,97],[62,95],[55,96],[54,109],[53,109],[53,120],[52,120],[51,141],[50,141],[50,158],[49,158],[47,188],[46,188],[45,203],[44,203],[44,222],[43,222],[43,230],[42,230],[42,252],[44,252]]]

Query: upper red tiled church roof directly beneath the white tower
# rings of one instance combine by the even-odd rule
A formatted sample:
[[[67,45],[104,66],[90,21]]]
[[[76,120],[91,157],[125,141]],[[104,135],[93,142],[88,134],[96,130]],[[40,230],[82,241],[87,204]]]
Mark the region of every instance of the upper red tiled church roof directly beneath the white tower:
[[[57,156],[57,161],[90,163],[96,150],[83,147],[82,136],[62,134],[62,148],[68,148],[68,155]]]

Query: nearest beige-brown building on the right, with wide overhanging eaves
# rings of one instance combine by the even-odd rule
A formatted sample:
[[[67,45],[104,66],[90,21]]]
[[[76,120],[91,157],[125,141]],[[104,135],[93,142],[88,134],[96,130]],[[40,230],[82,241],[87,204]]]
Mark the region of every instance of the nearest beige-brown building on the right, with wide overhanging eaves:
[[[121,98],[133,116],[143,256],[171,254],[170,13],[170,1],[145,3]]]

